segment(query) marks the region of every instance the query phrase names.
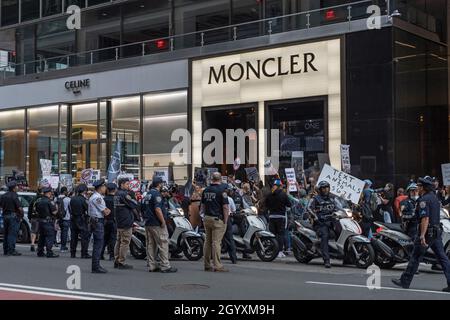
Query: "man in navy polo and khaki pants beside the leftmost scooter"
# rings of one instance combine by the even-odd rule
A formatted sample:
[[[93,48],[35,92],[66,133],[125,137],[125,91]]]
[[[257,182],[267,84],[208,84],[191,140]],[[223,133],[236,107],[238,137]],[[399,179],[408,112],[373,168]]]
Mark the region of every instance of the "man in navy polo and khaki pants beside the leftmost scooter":
[[[142,212],[145,219],[145,238],[147,242],[147,261],[149,272],[171,273],[177,269],[169,263],[169,232],[166,226],[167,212],[164,210],[163,197],[160,193],[163,181],[155,177],[150,191],[142,200]],[[164,214],[166,213],[166,215]],[[156,261],[159,257],[159,266]]]

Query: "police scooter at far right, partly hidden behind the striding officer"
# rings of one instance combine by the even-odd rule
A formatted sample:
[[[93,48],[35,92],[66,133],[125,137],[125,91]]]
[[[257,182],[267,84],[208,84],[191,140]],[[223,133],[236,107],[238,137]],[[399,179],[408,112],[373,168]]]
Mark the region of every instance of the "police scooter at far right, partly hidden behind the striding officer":
[[[374,222],[377,226],[373,236],[375,248],[375,264],[382,269],[390,269],[397,263],[408,262],[414,247],[414,239],[405,233],[405,224],[412,217],[403,217],[402,223]],[[440,222],[443,228],[442,242],[445,252],[450,257],[450,216],[448,210],[441,208]],[[423,256],[423,262],[432,265],[439,265],[431,250],[428,248]]]

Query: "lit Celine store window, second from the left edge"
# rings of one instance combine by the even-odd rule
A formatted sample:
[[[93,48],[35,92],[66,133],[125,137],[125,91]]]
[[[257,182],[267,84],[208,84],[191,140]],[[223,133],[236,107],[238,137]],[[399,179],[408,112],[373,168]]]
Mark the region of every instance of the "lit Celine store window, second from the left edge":
[[[35,190],[42,177],[40,160],[50,160],[52,174],[59,173],[58,109],[46,106],[28,109],[28,184]]]

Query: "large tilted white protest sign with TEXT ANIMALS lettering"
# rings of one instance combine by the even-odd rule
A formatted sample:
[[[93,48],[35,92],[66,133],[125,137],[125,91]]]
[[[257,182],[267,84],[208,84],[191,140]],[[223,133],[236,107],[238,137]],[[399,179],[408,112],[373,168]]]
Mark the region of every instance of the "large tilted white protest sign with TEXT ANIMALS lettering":
[[[323,166],[317,181],[327,181],[330,184],[330,192],[332,194],[345,200],[350,200],[354,204],[358,204],[364,188],[364,181],[343,171],[336,170],[327,164]]]

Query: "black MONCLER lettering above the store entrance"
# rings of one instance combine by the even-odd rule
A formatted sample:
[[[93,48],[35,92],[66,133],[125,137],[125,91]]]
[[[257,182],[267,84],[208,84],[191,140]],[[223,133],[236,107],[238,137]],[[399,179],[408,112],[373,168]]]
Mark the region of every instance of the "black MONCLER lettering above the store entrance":
[[[235,62],[230,65],[209,67],[208,84],[238,82],[262,78],[317,72],[313,52],[269,57],[252,61]]]

